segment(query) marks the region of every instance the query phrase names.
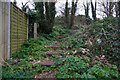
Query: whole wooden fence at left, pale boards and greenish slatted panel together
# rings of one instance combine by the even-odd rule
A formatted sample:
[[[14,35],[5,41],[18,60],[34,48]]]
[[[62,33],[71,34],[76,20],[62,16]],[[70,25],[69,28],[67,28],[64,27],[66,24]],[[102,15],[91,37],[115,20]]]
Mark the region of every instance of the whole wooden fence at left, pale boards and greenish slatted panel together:
[[[26,14],[16,5],[0,1],[0,61],[10,58],[26,40]]]

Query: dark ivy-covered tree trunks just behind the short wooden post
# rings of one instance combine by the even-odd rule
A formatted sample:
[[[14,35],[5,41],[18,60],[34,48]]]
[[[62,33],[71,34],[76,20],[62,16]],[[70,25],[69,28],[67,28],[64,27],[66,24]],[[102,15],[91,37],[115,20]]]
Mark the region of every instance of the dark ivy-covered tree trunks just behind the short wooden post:
[[[46,3],[48,3],[49,6],[46,7],[44,5],[44,2],[35,2],[35,9],[37,11],[36,16],[37,16],[37,23],[39,24],[39,30],[38,30],[39,33],[40,30],[42,30],[42,32],[49,34],[52,32],[54,26],[56,10],[55,10],[54,2],[46,2]],[[46,11],[45,14],[44,11]]]

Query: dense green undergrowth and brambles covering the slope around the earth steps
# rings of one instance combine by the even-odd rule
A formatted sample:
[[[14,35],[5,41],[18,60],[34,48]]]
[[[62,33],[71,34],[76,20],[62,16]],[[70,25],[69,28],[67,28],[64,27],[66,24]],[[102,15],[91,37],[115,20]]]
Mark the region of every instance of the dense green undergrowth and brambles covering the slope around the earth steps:
[[[3,65],[4,78],[35,78],[38,74],[53,71],[56,78],[118,79],[119,31],[117,18],[98,20],[77,30],[54,26],[51,34],[30,38],[22,48]],[[59,47],[45,47],[59,41]],[[46,51],[59,50],[62,58],[46,55]],[[46,67],[31,64],[35,60],[53,59],[55,64]]]

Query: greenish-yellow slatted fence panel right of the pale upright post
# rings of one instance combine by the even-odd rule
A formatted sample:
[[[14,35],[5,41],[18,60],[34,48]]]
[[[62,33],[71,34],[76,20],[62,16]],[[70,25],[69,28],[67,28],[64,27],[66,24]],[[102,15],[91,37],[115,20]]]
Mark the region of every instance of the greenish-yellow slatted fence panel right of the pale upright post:
[[[21,45],[27,40],[27,16],[12,3],[10,12],[10,46],[12,54],[21,48]]]

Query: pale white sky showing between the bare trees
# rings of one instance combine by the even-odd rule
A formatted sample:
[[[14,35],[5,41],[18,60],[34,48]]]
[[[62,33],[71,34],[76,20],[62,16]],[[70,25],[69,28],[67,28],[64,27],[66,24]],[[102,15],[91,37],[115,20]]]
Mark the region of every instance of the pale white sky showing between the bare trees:
[[[13,2],[14,0],[11,0],[11,1]],[[29,3],[27,5],[29,6],[29,8],[31,8],[31,9],[34,8],[34,6],[32,5],[32,4],[34,4],[33,0],[16,0],[16,1],[17,1],[17,6],[20,7],[20,8],[22,6],[22,2],[23,2],[23,4],[25,4],[28,1],[29,1]],[[35,1],[41,1],[41,0],[35,0]],[[50,0],[50,1],[53,1],[53,0]],[[66,0],[57,0],[56,5],[55,5],[56,6],[56,11],[57,11],[56,16],[60,16],[61,15],[61,11],[65,7],[65,1]],[[71,7],[71,1],[72,0],[68,0],[69,7]],[[83,7],[83,3],[85,1],[90,1],[90,0],[79,0],[78,6],[77,6],[76,15],[85,15],[84,14],[85,13],[84,12],[84,7]],[[95,2],[95,0],[92,0],[92,1]],[[103,1],[106,1],[106,0],[97,0],[97,2],[100,2],[100,1],[103,2]],[[111,0],[111,1],[116,1],[116,0]],[[97,6],[97,8],[99,9],[99,6]],[[99,11],[97,11],[97,18],[102,18],[101,15],[99,15],[99,14],[102,14],[102,13],[100,13]],[[90,6],[90,11],[89,11],[89,16],[92,18],[91,6]]]

